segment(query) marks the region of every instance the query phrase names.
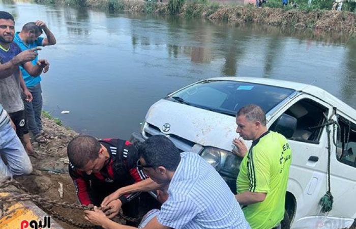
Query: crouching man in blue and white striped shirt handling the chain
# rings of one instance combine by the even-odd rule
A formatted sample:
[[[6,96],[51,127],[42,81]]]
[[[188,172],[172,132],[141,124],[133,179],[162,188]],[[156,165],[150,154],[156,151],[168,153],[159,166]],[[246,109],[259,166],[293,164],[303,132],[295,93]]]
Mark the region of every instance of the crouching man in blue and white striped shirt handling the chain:
[[[148,138],[138,151],[145,173],[158,186],[169,185],[161,211],[143,228],[250,228],[225,181],[198,154],[180,153],[163,135]],[[85,214],[104,228],[132,228],[109,220],[98,209]]]

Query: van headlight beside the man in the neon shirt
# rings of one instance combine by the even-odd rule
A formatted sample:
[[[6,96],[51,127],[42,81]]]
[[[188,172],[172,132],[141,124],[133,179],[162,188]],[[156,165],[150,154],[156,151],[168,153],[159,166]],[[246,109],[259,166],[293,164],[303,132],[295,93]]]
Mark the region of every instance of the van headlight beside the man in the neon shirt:
[[[215,147],[205,147],[200,156],[211,164],[220,174],[236,178],[242,158],[232,152]]]

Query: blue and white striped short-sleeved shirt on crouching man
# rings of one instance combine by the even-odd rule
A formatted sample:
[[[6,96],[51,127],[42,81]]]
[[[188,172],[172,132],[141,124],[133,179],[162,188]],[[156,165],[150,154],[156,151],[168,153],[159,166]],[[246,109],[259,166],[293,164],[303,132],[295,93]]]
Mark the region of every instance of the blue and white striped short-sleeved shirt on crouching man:
[[[195,153],[181,153],[157,220],[179,228],[250,228],[218,172]]]

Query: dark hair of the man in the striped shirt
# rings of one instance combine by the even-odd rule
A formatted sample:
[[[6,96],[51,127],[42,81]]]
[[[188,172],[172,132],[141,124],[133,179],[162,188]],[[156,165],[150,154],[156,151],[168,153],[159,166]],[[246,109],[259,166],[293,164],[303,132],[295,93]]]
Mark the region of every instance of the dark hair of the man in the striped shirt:
[[[147,165],[163,166],[169,171],[175,171],[181,161],[180,151],[163,135],[147,138],[138,146],[138,154]]]

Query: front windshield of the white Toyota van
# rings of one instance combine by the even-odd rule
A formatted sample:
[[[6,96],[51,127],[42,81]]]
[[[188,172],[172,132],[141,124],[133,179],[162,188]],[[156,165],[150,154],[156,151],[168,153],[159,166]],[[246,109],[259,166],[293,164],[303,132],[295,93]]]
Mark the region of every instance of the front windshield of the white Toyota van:
[[[257,83],[204,80],[165,99],[235,116],[241,107],[250,103],[259,105],[267,113],[293,92]]]

